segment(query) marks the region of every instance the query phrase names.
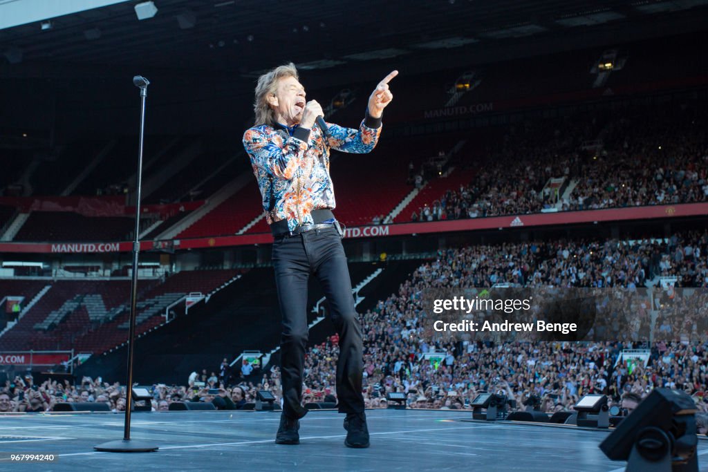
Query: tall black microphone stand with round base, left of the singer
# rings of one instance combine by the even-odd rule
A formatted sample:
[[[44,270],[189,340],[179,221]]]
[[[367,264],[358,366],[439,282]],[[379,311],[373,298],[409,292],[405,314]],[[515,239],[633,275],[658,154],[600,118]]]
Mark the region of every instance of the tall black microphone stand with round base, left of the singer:
[[[132,410],[132,366],[133,366],[133,346],[135,345],[135,316],[137,305],[137,256],[140,252],[140,242],[138,235],[140,232],[140,191],[142,188],[142,142],[145,132],[145,98],[147,98],[147,86],[150,82],[143,76],[133,77],[133,84],[140,89],[140,142],[137,155],[137,191],[135,200],[135,232],[133,234],[133,262],[132,262],[132,282],[130,284],[130,332],[128,333],[128,372],[125,383],[125,428],[123,439],[117,441],[104,442],[94,446],[96,451],[105,452],[152,452],[158,447],[144,441],[130,439],[130,413]]]

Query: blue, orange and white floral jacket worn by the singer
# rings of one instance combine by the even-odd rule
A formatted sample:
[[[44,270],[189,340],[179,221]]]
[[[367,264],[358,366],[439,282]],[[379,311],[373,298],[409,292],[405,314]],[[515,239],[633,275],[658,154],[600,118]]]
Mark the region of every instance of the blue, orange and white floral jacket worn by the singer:
[[[370,116],[359,129],[327,125],[329,138],[316,126],[261,125],[244,133],[244,147],[261,190],[268,224],[287,219],[288,228],[294,231],[299,225],[314,223],[312,210],[334,209],[330,149],[367,153],[381,134],[381,120]]]

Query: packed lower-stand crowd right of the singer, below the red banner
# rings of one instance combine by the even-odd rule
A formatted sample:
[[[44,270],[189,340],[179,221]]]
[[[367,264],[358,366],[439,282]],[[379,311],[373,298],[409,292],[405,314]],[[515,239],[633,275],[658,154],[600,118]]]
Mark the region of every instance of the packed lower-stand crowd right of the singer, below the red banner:
[[[690,260],[685,248],[690,248]],[[413,273],[398,294],[362,316],[365,333],[367,403],[375,407],[389,391],[409,393],[411,405],[464,408],[480,391],[503,390],[519,406],[532,395],[544,397],[546,410],[569,409],[580,396],[602,391],[614,401],[626,393],[644,396],[649,388],[684,388],[702,398],[706,386],[708,343],[652,343],[651,362],[615,367],[623,343],[433,343],[426,332],[422,292],[430,287],[491,287],[511,282],[525,287],[639,287],[647,279],[677,275],[677,284],[708,287],[704,258],[708,232],[673,236],[666,241],[554,242],[472,246],[440,253]],[[664,255],[682,254],[665,258]],[[490,257],[491,255],[491,257]],[[704,318],[706,307],[696,318]],[[683,318],[687,320],[688,318]],[[661,320],[661,318],[660,318]],[[674,323],[681,323],[676,319]],[[695,320],[692,321],[695,324]],[[655,326],[655,329],[658,325]],[[675,326],[675,329],[683,328]],[[692,340],[708,339],[708,326],[691,326]],[[661,331],[660,331],[661,334]],[[655,339],[661,339],[655,335]],[[429,362],[426,352],[441,352]],[[309,352],[308,382],[331,385],[336,345]],[[552,403],[549,403],[552,399]],[[704,403],[701,403],[704,408]],[[522,407],[523,408],[523,407]]]

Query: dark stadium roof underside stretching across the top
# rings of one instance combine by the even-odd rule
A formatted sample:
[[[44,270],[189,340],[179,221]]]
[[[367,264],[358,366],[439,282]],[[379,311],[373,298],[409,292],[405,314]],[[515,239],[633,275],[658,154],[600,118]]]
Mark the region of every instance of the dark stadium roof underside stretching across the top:
[[[708,29],[708,0],[153,0],[156,14],[139,21],[141,3],[62,0],[66,14],[47,7],[46,18],[0,22],[0,75],[110,64],[253,77],[292,60],[331,83],[391,62],[429,71]],[[0,0],[0,17],[23,4],[51,2]]]

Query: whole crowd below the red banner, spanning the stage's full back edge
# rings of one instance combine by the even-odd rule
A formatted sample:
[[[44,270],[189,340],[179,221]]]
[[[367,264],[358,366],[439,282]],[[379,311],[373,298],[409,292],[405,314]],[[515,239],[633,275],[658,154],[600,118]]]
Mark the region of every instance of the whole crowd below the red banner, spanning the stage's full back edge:
[[[644,287],[657,277],[675,277],[676,287],[708,287],[708,230],[643,241],[554,241],[502,243],[440,251],[424,263],[399,291],[362,313],[365,337],[365,404],[385,408],[386,393],[406,393],[411,408],[469,408],[481,391],[501,391],[523,408],[539,398],[547,413],[570,410],[585,393],[606,393],[617,403],[641,400],[651,388],[681,388],[708,410],[708,320],[706,304],[692,316],[658,316],[651,344],[636,338],[616,342],[465,342],[426,335],[428,315],[423,290],[492,287]],[[705,298],[703,299],[705,301]],[[675,301],[681,306],[681,300]],[[648,316],[648,315],[647,315]],[[676,340],[678,333],[687,337]],[[673,336],[671,334],[674,334]],[[663,340],[668,340],[664,342]],[[304,403],[336,401],[334,373],[338,339],[309,348],[305,364]],[[644,364],[615,364],[628,348],[651,350]],[[222,366],[226,364],[226,359]],[[218,372],[218,374],[217,374]],[[236,374],[239,374],[238,372]],[[272,391],[280,401],[277,367],[251,376],[228,369],[210,375],[193,372],[184,386],[152,386],[156,411],[175,401],[207,401],[219,409],[244,408],[258,390]],[[98,401],[116,412],[125,410],[125,387],[100,378],[81,384],[16,376],[0,393],[0,412],[52,410],[59,402]]]

